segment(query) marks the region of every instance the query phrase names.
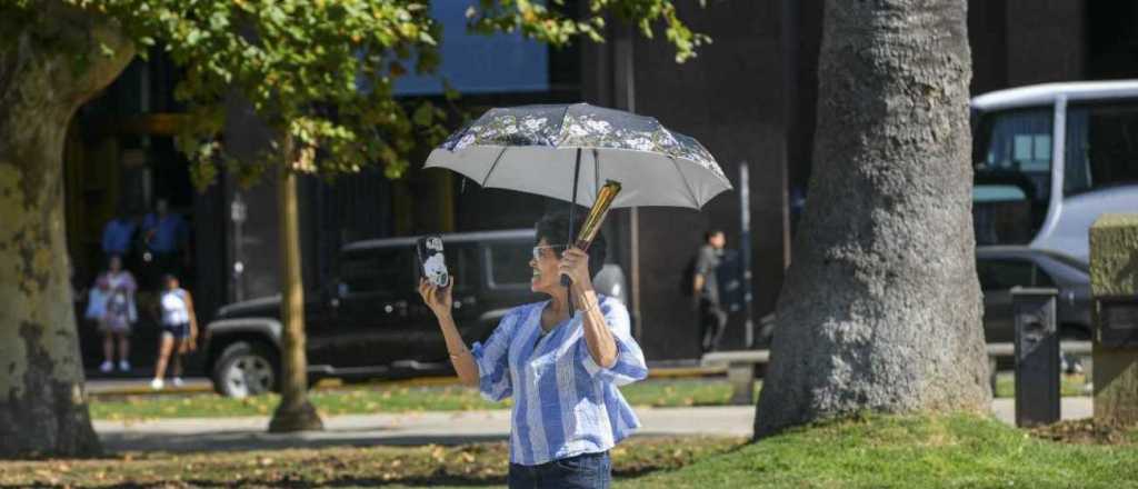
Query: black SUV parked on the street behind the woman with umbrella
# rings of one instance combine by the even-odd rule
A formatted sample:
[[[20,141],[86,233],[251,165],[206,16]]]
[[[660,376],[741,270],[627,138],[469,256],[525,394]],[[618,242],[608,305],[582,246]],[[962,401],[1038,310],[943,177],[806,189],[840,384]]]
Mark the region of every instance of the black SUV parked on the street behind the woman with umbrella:
[[[468,343],[485,340],[529,291],[534,230],[444,234],[454,318]],[[340,250],[339,276],[305,304],[308,378],[345,380],[451,372],[435,316],[417,291],[415,239],[360,241]],[[597,292],[624,300],[624,272],[605,265]],[[206,326],[206,371],[217,392],[274,390],[280,378],[280,296],[222,307]]]

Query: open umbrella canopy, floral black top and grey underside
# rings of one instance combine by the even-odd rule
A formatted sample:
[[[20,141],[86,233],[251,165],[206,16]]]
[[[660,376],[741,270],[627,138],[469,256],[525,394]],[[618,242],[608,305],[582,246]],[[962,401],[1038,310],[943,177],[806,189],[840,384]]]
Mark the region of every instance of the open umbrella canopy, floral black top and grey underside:
[[[431,151],[424,167],[450,168],[486,188],[566,201],[576,194],[589,207],[608,180],[621,184],[612,207],[699,209],[732,189],[695,139],[652,117],[587,103],[487,110]]]

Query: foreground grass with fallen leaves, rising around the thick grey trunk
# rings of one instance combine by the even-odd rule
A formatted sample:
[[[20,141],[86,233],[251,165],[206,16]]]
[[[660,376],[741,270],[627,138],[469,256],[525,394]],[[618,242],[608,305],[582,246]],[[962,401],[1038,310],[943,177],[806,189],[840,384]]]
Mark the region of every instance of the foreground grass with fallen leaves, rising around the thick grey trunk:
[[[1079,423],[1044,431],[971,415],[872,415],[757,444],[633,438],[612,450],[613,474],[618,488],[1138,487],[1138,431],[1106,436]],[[503,442],[126,453],[0,462],[0,487],[501,487],[506,459]]]

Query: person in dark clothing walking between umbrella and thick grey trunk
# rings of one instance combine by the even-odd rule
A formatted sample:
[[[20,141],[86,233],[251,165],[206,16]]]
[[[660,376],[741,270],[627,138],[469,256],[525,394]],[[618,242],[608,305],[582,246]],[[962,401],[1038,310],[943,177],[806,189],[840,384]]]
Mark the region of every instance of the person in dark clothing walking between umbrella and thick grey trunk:
[[[716,268],[723,259],[727,237],[721,230],[711,230],[703,235],[703,246],[695,258],[695,273],[692,280],[693,297],[699,300],[700,339],[703,353],[715,351],[719,347],[724,328],[727,325],[727,312],[719,301],[719,280]]]

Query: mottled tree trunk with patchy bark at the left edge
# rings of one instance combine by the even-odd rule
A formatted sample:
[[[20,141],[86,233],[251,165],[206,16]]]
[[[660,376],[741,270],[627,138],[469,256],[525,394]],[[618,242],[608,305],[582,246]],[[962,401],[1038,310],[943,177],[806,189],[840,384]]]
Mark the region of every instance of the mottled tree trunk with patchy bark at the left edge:
[[[30,8],[0,9],[0,457],[90,455],[99,440],[72,308],[64,139],[134,50],[102,16],[55,1]]]

